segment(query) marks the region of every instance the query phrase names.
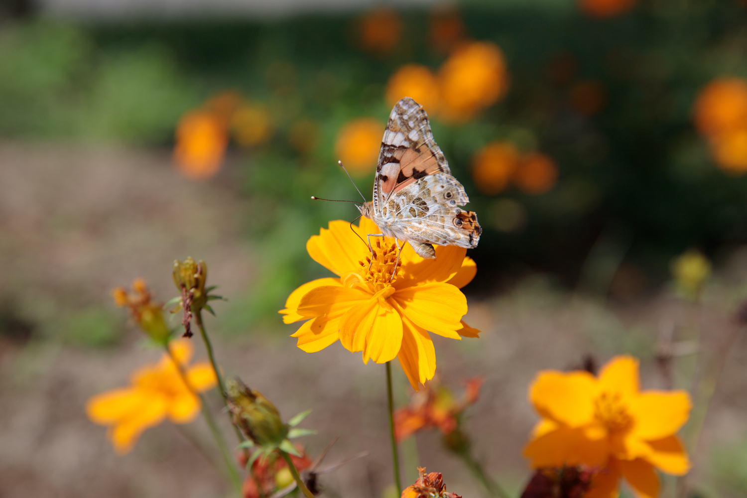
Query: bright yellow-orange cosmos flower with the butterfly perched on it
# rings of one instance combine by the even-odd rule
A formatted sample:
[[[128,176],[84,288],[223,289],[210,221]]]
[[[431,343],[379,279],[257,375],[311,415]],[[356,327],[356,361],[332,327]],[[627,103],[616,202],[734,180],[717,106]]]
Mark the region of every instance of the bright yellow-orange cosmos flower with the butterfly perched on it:
[[[480,331],[461,320],[467,299],[459,290],[477,267],[465,258],[464,248],[439,246],[436,259],[424,260],[406,244],[394,270],[394,239],[371,237],[373,255],[363,241],[379,233],[368,218],[359,226],[329,222],[329,230],[311,237],[306,250],[338,278],[303,284],[279,312],[285,323],[308,320],[292,336],[298,337],[300,349],[317,352],[339,339],[345,349],[362,351],[365,363],[396,357],[418,390],[418,382],[436,372],[436,350],[427,331],[452,339],[478,337]]]

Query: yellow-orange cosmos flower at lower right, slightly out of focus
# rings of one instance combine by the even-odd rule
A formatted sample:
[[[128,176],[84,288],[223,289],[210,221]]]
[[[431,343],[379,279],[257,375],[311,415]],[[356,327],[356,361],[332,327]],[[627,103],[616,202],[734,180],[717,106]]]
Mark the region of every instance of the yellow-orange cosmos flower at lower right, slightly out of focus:
[[[542,420],[524,455],[532,467],[601,468],[586,498],[615,498],[621,477],[639,497],[659,495],[654,469],[684,475],[690,463],[676,435],[691,408],[684,390],[639,390],[638,361],[616,356],[598,377],[540,372],[530,399]]]

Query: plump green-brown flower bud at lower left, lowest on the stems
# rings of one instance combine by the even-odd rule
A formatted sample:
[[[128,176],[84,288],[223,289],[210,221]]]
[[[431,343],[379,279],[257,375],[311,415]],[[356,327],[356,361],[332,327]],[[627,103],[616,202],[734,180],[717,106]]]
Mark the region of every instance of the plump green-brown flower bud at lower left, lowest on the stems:
[[[258,446],[279,446],[288,437],[288,425],[270,400],[241,380],[226,381],[233,423]]]

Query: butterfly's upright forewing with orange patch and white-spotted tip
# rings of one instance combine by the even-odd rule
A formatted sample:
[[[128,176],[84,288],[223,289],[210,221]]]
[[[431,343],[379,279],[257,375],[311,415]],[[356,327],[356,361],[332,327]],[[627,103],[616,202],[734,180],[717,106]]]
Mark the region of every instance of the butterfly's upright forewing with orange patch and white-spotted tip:
[[[405,97],[392,108],[384,131],[373,181],[374,215],[382,216],[394,193],[436,173],[450,175],[449,164],[433,140],[427,114],[418,102]],[[469,202],[463,188],[458,194],[457,205]]]

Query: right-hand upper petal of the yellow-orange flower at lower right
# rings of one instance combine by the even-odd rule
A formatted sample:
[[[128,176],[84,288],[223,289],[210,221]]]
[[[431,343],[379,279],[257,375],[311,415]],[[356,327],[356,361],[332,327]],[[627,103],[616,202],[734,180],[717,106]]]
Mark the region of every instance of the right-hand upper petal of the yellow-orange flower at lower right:
[[[630,402],[636,420],[633,432],[642,439],[661,439],[678,432],[687,422],[692,403],[684,390],[646,390]]]

